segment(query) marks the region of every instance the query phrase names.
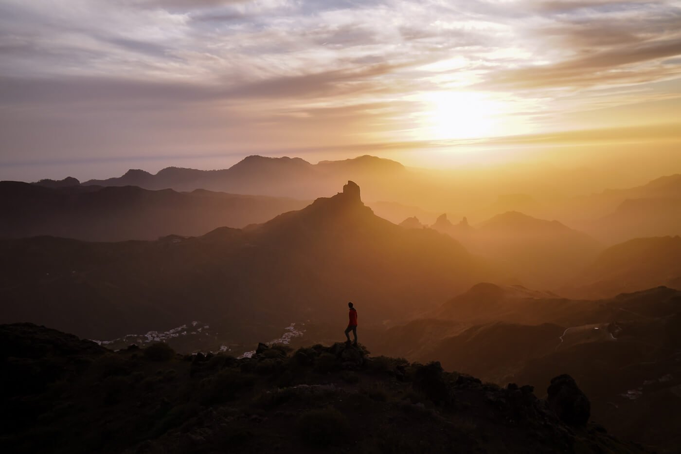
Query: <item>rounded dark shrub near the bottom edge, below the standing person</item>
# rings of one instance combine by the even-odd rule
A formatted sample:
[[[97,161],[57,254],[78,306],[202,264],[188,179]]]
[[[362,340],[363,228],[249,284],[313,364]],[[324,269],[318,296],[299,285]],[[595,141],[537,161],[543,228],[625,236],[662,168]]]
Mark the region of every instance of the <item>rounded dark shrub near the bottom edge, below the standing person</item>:
[[[345,416],[335,408],[311,410],[298,419],[298,434],[313,447],[338,446],[347,440],[350,426]]]

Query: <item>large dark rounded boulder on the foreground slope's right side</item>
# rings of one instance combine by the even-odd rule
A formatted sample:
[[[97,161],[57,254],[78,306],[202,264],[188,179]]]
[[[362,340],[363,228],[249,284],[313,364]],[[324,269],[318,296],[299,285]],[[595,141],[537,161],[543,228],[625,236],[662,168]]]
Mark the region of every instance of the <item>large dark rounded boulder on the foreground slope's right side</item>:
[[[563,374],[552,378],[547,392],[548,406],[561,421],[577,427],[588,423],[591,404],[571,376]]]

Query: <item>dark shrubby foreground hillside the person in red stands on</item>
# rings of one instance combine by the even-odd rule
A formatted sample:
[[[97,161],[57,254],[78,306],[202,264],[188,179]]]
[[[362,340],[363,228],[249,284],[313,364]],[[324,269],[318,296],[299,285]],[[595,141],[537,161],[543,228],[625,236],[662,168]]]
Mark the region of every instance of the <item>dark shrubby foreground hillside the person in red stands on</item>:
[[[0,345],[12,453],[644,452],[588,423],[569,376],[543,384],[544,400],[343,344],[183,357],[14,324]]]

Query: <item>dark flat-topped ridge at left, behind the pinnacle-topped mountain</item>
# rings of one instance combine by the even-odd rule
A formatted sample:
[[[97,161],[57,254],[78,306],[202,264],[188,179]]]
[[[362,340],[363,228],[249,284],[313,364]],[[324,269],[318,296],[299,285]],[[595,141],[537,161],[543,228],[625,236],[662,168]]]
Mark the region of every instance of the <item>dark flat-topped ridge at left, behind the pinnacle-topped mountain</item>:
[[[0,238],[50,235],[84,241],[155,240],[170,234],[202,235],[218,227],[242,228],[308,202],[194,190],[140,187],[53,186],[0,182]]]

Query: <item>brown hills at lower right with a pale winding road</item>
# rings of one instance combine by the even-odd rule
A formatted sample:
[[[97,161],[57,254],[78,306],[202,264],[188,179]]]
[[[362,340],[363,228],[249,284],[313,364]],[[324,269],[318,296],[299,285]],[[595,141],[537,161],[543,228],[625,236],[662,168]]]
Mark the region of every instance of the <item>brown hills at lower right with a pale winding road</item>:
[[[383,335],[385,354],[437,358],[498,384],[537,386],[569,372],[592,414],[616,434],[656,449],[681,441],[681,291],[653,288],[570,300],[520,286],[477,284],[425,318]]]

